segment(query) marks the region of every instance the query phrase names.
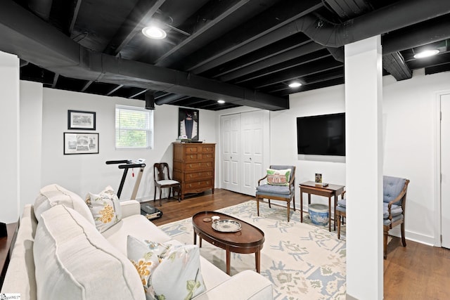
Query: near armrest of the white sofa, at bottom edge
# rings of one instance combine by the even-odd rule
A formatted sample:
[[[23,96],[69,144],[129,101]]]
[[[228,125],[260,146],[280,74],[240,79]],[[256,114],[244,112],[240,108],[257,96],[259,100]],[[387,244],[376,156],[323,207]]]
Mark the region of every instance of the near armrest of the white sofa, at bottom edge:
[[[272,283],[253,270],[244,270],[198,295],[195,300],[273,300]]]

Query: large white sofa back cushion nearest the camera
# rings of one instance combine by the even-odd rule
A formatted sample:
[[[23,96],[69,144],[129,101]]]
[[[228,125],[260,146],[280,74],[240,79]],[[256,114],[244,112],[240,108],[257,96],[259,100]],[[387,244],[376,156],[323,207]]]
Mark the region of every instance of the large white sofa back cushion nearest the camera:
[[[41,214],[34,240],[37,299],[145,299],[136,268],[77,211]]]

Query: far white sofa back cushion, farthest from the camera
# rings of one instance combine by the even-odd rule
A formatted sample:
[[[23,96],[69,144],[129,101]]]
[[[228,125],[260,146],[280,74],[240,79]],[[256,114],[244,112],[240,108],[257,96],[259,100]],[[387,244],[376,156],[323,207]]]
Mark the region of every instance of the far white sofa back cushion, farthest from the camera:
[[[70,190],[66,190],[57,184],[46,185],[39,190],[39,195],[34,201],[34,214],[36,215],[37,221],[40,221],[41,214],[44,211],[58,204],[63,204],[65,207],[75,209],[79,214],[84,216],[87,221],[93,225],[95,224],[91,211],[89,211],[89,208],[86,203],[84,203],[82,197],[79,197],[79,195]]]

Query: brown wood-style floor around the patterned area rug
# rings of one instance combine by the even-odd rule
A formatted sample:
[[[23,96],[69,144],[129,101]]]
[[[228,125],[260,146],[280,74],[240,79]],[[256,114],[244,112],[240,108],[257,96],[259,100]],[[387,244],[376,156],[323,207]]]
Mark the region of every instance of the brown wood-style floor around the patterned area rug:
[[[158,201],[155,203],[163,212],[162,218],[153,223],[160,226],[189,218],[198,211],[221,209],[248,200],[255,197],[221,189],[216,189],[214,195],[205,192],[185,197],[181,202],[163,199],[162,207]],[[393,237],[384,261],[384,299],[450,299],[450,250],[410,240],[402,247],[400,240]]]

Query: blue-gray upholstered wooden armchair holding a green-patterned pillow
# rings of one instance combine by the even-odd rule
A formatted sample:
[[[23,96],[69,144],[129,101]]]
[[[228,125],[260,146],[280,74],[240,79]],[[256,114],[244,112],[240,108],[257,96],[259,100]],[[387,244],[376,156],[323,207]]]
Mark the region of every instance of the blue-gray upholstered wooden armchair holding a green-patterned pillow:
[[[256,188],[256,202],[257,213],[259,216],[259,200],[266,198],[269,200],[269,207],[271,207],[270,200],[281,200],[288,202],[288,222],[290,219],[290,202],[293,201],[295,211],[295,166],[283,166],[283,165],[271,165],[269,167],[272,170],[287,170],[290,169],[290,176],[286,180],[285,185],[273,184],[261,184],[262,181],[267,181],[267,175],[259,179],[258,186]]]

